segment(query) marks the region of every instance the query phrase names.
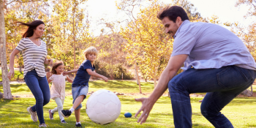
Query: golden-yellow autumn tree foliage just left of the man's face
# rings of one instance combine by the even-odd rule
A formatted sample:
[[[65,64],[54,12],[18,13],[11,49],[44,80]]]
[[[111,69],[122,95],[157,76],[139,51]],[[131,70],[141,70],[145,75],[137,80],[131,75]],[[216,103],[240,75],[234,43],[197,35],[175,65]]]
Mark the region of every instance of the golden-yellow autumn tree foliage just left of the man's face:
[[[164,27],[157,19],[161,6],[159,1],[151,1],[148,7],[140,9],[138,18],[130,21],[127,28],[121,29],[121,35],[127,39],[124,48],[127,61],[129,64],[138,63],[138,67],[143,67],[144,74],[154,78],[155,85],[157,77],[166,66],[166,63],[161,64],[161,61],[169,59],[173,41],[162,31]]]

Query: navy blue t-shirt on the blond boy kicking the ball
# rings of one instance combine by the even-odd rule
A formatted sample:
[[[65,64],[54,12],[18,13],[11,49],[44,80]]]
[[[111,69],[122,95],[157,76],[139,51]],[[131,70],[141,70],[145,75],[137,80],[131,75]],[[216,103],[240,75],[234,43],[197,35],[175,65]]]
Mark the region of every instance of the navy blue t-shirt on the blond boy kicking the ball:
[[[91,61],[85,60],[80,65],[78,72],[75,76],[75,79],[72,83],[72,87],[75,86],[89,86],[88,82],[91,77],[91,75],[88,74],[86,69],[91,69],[91,71],[94,71],[95,67],[91,65]]]

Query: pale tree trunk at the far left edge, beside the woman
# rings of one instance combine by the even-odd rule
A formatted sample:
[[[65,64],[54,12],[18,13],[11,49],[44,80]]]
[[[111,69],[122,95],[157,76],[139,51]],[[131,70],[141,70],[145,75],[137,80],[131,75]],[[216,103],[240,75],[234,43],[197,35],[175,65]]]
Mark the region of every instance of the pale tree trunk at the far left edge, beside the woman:
[[[1,76],[3,80],[4,99],[12,99],[10,82],[7,78],[7,55],[6,55],[6,36],[4,25],[4,1],[0,0],[0,58],[1,58]]]

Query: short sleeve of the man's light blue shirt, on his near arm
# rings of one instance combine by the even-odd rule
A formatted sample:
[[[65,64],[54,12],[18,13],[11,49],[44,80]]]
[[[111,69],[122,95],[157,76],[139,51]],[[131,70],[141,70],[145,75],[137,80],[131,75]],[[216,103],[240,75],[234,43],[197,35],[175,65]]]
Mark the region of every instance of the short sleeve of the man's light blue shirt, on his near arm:
[[[191,52],[195,46],[195,36],[187,31],[181,31],[173,42],[173,53],[171,56],[187,54]]]

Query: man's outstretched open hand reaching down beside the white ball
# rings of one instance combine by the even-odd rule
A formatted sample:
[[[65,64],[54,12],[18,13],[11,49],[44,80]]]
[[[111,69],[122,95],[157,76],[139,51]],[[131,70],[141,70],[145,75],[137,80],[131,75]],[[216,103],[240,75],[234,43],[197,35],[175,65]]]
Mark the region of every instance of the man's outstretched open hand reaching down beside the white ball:
[[[135,99],[137,102],[141,102],[142,106],[140,108],[140,110],[138,110],[138,112],[135,114],[135,117],[138,116],[138,114],[141,112],[141,110],[143,111],[143,113],[140,115],[140,117],[138,118],[138,123],[143,124],[146,122],[148,115],[151,111],[151,109],[154,106],[154,102],[151,101],[148,98],[140,98],[140,99]]]

